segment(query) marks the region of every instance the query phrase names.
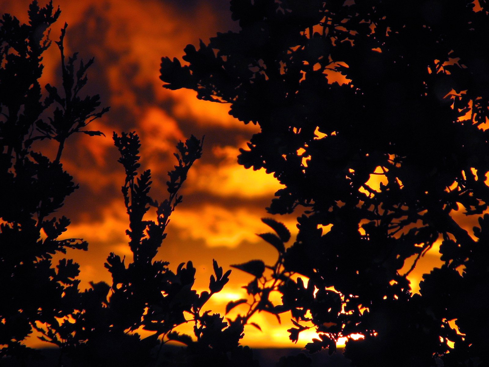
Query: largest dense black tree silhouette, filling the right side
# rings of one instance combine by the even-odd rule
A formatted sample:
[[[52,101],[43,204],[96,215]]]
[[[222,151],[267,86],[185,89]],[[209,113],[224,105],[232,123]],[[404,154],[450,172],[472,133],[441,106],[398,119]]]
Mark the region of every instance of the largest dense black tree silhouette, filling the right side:
[[[270,213],[305,210],[287,250],[277,224],[262,235],[274,266],[235,266],[256,276],[250,312],[290,311],[292,341],[311,321],[311,352],[362,334],[346,346],[354,366],[487,366],[488,1],[230,3],[241,30],[188,45],[188,65],[163,58],[160,78],[258,123],[239,163],[286,186]],[[412,294],[438,240],[445,263]]]

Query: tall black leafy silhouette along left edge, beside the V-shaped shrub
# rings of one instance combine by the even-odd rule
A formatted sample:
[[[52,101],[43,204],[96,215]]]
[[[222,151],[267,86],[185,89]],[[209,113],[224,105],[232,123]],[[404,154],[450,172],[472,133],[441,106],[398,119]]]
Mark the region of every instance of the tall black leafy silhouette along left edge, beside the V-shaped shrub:
[[[51,43],[44,31],[60,10],[52,2],[39,7],[33,1],[28,15],[29,24],[9,14],[0,20],[0,357],[24,355],[22,341],[33,328],[39,329],[39,323],[54,327],[56,318],[73,311],[70,298],[78,292],[78,264],[63,259],[54,268],[51,258],[67,249],[87,250],[87,242],[60,239],[70,221],[52,216],[78,187],[63,170],[60,157],[71,134],[100,135],[82,129],[108,110],[98,110],[98,95],[78,97],[92,61],[81,62],[76,73],[76,54],[65,64],[66,25],[57,42],[64,97],[46,85],[48,96],[42,99],[42,54]],[[56,108],[50,117],[52,106]],[[32,146],[45,138],[59,143],[54,161]]]

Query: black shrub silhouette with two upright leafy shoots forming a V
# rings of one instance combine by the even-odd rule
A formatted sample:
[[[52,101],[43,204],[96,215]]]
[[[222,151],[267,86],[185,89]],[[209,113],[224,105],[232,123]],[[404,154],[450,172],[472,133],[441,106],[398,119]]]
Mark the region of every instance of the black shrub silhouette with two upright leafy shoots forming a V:
[[[238,348],[243,327],[223,322],[218,314],[202,313],[202,307],[209,298],[220,292],[228,282],[230,270],[223,273],[216,261],[213,262],[215,275],[211,275],[209,292],[198,294],[192,289],[196,269],[192,262],[178,265],[172,272],[168,262],[153,261],[157,249],[166,237],[165,229],[171,213],[182,201],[178,189],[183,184],[189,168],[200,158],[201,141],[191,137],[177,145],[175,157],[178,165],[168,172],[169,198],[161,203],[149,196],[151,172],[138,174],[139,138],[135,133],[114,133],[113,140],[119,149],[126,171],[122,193],[129,214],[129,247],[133,261],[126,265],[125,257],[111,253],[105,267],[112,275],[112,285],[104,282],[91,283],[92,288],[78,295],[74,311],[69,315],[72,321],[51,326],[45,333],[46,339],[62,349],[68,360],[80,366],[147,366],[154,365],[159,357],[155,346],[174,341],[187,346],[175,357],[168,357],[167,363],[186,360],[185,365],[197,366],[202,360],[215,361],[216,366],[232,366],[229,358],[233,354],[246,353]],[[144,215],[154,207],[157,220],[145,220]],[[191,319],[185,317],[191,315]],[[189,335],[174,331],[186,322],[194,322],[196,341]],[[140,338],[136,331],[145,330],[151,335]],[[230,353],[230,357],[228,354]],[[250,352],[247,352],[251,357]],[[173,361],[173,362],[172,362]],[[219,363],[218,363],[219,361]],[[249,364],[251,359],[246,362]]]

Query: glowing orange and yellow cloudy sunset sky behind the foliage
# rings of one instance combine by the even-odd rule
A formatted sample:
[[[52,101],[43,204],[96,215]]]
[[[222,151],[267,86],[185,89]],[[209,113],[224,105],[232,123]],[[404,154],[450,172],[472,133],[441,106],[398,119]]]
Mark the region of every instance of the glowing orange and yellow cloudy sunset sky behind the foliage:
[[[27,22],[29,3],[0,0],[0,13],[11,13]],[[67,198],[59,216],[71,219],[66,237],[89,242],[88,252],[71,251],[67,255],[80,264],[81,288],[89,287],[89,281],[111,282],[103,265],[110,252],[131,255],[125,235],[128,216],[120,190],[124,169],[117,163],[113,131],[138,133],[142,167],[152,170],[152,196],[158,201],[167,197],[165,183],[175,162],[175,144],[191,134],[198,138],[205,135],[203,156],[190,170],[182,190],[183,203],[172,214],[158,259],[170,261],[174,270],[179,263],[192,260],[197,268],[198,291],[208,287],[213,258],[224,270],[230,264],[256,258],[274,262],[276,250],[256,233],[268,231],[260,218],[270,217],[265,207],[281,185],[263,170],[244,169],[236,158],[238,149],[259,128],[228,115],[229,105],[198,100],[194,91],[163,89],[158,78],[162,56],[181,60],[187,44],[198,44],[199,39],[208,42],[218,31],[239,30],[230,18],[229,1],[55,0],[53,4],[59,5],[62,13],[52,26],[50,38],[58,40],[61,27],[68,23],[66,54],[79,52],[85,61],[95,57],[85,93],[100,94],[102,106],[111,106],[109,113],[90,126],[106,137],[79,134],[68,142],[62,158],[80,188]],[[40,5],[44,5],[43,0]],[[43,64],[41,85],[60,86],[60,57],[54,43],[45,52]],[[50,152],[45,145],[38,149]],[[50,158],[54,159],[54,153]],[[377,181],[369,184],[378,188],[381,176],[372,177]],[[275,219],[285,223],[294,237],[296,216]],[[465,218],[456,216],[460,221]],[[470,229],[471,224],[464,227]],[[410,277],[413,290],[417,291],[422,274],[440,263],[438,249],[433,248]],[[228,301],[246,297],[241,287],[249,280],[250,276],[233,270],[230,282],[207,307],[223,314]],[[244,309],[239,306],[236,312]],[[284,314],[282,324],[278,324],[274,317],[258,314],[252,321],[264,332],[247,326],[242,343],[292,346],[287,332],[289,319]],[[301,333],[297,346],[304,346],[311,336]],[[39,346],[41,342],[31,338],[29,343]]]

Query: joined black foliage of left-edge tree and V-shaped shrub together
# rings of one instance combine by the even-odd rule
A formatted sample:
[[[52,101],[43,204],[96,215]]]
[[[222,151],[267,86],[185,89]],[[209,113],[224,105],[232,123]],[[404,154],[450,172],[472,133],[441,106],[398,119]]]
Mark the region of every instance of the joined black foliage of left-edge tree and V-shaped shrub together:
[[[52,267],[52,255],[67,248],[88,250],[82,239],[60,239],[70,221],[53,213],[78,186],[60,161],[67,138],[74,133],[103,135],[85,130],[109,109],[98,109],[99,96],[81,98],[86,71],[93,63],[77,54],[64,55],[67,24],[56,42],[61,53],[63,93],[45,86],[42,101],[38,79],[42,53],[50,46],[46,29],[60,15],[52,2],[29,6],[29,24],[3,15],[0,24],[0,358],[15,357],[25,365],[36,351],[23,344],[35,329],[41,340],[60,348],[58,366],[257,366],[248,347],[239,345],[244,322],[227,320],[203,307],[229,280],[213,261],[209,291],[193,290],[196,269],[191,261],[177,271],[154,257],[166,237],[169,217],[182,202],[178,190],[193,163],[202,153],[202,140],[192,136],[177,144],[177,164],[168,172],[169,197],[160,203],[150,195],[151,172],[138,173],[139,137],[135,133],[113,134],[124,166],[122,186],[129,215],[129,248],[133,259],[111,253],[105,267],[112,284],[91,282],[80,291],[79,266],[62,259]],[[36,152],[33,143],[50,139],[58,144],[54,161]],[[150,208],[156,221],[146,220]],[[192,322],[194,338],[175,331]],[[141,338],[140,331],[150,335]],[[160,355],[162,346],[178,342],[186,348]],[[159,347],[157,347],[159,344]],[[38,357],[38,356],[37,356]]]

